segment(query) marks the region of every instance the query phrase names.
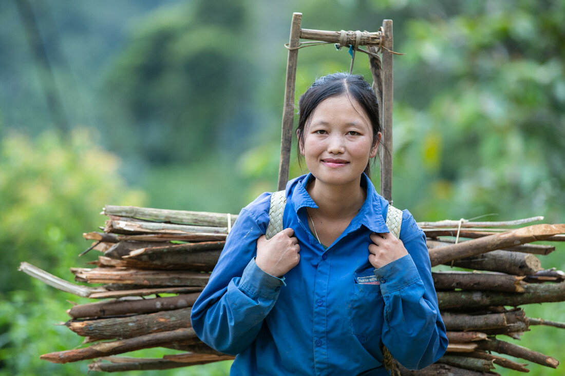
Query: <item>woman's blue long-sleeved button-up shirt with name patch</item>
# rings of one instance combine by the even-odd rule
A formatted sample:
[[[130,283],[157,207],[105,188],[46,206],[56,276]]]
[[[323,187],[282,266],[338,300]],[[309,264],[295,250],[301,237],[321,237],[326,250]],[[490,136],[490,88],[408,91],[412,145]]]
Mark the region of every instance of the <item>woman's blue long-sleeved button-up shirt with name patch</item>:
[[[210,281],[192,308],[199,338],[237,354],[232,375],[388,375],[381,346],[406,368],[420,369],[447,347],[425,235],[408,211],[400,238],[408,250],[376,269],[369,235],[388,233],[388,202],[363,174],[367,198],[343,234],[324,248],[308,227],[311,174],[286,185],[284,228],[292,228],[300,261],[283,278],[255,264],[271,194],[242,209]]]

